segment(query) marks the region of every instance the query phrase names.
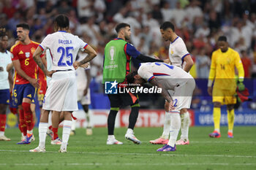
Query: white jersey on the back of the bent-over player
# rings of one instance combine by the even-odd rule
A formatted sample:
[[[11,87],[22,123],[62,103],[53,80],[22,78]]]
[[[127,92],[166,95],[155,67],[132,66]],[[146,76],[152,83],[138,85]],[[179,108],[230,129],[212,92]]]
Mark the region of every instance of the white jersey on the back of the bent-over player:
[[[177,86],[184,85],[193,77],[178,66],[167,63],[141,63],[138,74],[148,82],[155,78],[167,90],[174,90]]]

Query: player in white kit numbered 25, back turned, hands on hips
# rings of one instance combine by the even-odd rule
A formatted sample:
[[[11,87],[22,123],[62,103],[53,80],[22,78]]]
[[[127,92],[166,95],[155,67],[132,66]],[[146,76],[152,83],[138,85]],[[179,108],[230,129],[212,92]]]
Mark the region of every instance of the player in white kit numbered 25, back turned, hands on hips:
[[[62,143],[59,152],[67,152],[67,142],[72,125],[72,112],[78,110],[77,84],[75,69],[84,63],[91,61],[97,53],[78,36],[69,33],[69,18],[66,15],[58,15],[54,20],[53,34],[49,34],[34,52],[33,58],[40,69],[48,77],[52,77],[45,93],[42,105],[42,115],[39,123],[39,146],[30,152],[45,152],[45,138],[48,129],[48,115],[52,114],[52,126],[58,128],[59,117],[64,112]],[[48,71],[42,63],[39,55],[44,50],[50,50],[53,58],[52,69]],[[84,50],[88,56],[83,61],[75,61],[79,50]]]

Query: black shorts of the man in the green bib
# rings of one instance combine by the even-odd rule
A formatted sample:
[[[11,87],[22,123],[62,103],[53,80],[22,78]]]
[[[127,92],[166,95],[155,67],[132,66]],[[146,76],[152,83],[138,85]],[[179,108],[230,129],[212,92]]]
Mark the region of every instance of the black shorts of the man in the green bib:
[[[139,103],[138,95],[133,93],[108,94],[108,98],[110,107],[127,107]]]

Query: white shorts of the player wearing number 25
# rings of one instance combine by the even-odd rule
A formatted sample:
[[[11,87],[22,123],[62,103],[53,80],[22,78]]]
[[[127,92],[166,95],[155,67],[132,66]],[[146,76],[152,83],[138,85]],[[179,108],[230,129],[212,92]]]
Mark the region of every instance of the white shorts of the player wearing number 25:
[[[75,71],[53,73],[42,109],[58,112],[78,110]]]

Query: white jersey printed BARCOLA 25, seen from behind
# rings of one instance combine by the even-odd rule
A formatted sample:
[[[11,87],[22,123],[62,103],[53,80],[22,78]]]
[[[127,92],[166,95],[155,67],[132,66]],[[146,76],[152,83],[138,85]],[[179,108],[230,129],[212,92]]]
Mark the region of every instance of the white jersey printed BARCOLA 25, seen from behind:
[[[39,45],[42,50],[50,50],[50,55],[53,59],[52,70],[75,70],[73,63],[78,51],[86,49],[86,46],[86,42],[66,31],[48,34]]]

